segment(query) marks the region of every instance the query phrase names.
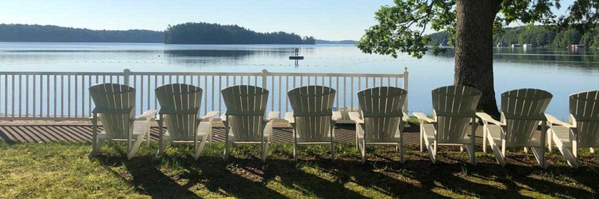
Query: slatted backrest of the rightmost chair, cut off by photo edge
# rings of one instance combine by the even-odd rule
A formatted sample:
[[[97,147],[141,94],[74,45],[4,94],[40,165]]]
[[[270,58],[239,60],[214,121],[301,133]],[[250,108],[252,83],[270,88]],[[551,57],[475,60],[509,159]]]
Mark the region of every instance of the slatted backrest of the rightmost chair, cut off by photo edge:
[[[570,117],[580,147],[599,146],[599,90],[570,95]]]

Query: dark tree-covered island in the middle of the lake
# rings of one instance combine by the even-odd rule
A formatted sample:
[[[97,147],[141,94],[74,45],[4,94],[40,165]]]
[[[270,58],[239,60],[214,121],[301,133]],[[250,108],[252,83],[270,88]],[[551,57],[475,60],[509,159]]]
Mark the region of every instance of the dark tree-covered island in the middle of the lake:
[[[165,44],[314,44],[313,36],[295,33],[255,32],[237,25],[182,23],[168,26]]]

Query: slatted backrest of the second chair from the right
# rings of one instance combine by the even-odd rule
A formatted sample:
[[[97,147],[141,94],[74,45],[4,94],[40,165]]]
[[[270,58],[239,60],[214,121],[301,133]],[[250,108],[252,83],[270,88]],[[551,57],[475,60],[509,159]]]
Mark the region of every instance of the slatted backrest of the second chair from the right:
[[[553,95],[547,91],[522,88],[501,93],[501,121],[506,124],[506,146],[533,146],[535,131],[545,121],[545,110]],[[536,143],[540,143],[537,138]]]

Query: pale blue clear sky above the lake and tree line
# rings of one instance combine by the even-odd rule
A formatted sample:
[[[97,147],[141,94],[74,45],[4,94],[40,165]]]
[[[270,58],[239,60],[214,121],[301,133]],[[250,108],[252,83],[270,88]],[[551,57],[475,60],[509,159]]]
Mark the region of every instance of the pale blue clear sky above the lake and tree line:
[[[563,7],[572,1],[562,0]],[[392,4],[392,0],[10,0],[0,5],[0,23],[165,30],[168,25],[207,22],[325,40],[358,40],[376,24],[374,13]]]

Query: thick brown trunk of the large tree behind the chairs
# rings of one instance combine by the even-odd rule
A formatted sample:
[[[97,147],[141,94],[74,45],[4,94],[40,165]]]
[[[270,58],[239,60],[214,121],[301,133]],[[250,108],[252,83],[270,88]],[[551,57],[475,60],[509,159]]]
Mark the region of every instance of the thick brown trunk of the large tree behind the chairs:
[[[477,109],[497,117],[493,80],[493,22],[497,0],[456,1],[455,74],[453,84],[482,91]]]

